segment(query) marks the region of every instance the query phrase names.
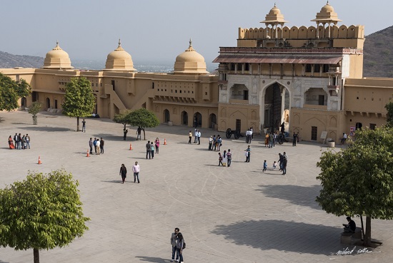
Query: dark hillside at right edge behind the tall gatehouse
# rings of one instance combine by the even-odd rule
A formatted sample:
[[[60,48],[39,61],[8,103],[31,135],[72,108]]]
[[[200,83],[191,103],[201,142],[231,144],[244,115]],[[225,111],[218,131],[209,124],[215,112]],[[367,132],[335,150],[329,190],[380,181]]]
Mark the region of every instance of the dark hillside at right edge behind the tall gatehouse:
[[[366,36],[363,76],[393,78],[393,26]]]

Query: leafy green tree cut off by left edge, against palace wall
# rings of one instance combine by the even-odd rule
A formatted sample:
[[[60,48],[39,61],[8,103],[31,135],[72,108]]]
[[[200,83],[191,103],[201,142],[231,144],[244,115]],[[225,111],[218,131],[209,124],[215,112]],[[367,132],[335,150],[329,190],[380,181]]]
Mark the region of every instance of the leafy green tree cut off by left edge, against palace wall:
[[[0,73],[0,110],[11,111],[19,107],[18,100],[30,94],[30,86],[24,79],[14,81]]]

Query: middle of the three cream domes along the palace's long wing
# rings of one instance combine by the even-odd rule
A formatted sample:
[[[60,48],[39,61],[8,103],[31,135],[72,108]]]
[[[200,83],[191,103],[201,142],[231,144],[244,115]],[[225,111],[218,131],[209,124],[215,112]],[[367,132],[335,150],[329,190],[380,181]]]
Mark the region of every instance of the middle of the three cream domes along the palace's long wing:
[[[119,46],[106,57],[104,71],[136,71],[131,55],[121,47],[120,39]]]

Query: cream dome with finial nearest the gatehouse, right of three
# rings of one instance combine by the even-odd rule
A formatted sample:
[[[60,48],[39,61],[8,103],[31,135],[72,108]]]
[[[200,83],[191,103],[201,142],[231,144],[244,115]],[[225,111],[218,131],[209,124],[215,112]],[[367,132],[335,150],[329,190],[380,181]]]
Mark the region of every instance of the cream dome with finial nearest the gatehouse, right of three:
[[[174,63],[175,74],[207,74],[204,57],[192,47],[191,38],[189,48],[176,57]]]

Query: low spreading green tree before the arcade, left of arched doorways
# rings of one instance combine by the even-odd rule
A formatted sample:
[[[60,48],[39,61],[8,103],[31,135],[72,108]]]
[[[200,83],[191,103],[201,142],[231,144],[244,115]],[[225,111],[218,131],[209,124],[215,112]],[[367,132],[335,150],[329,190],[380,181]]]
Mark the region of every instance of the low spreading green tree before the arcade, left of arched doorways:
[[[124,125],[138,126],[144,131],[144,140],[146,140],[145,128],[153,128],[159,125],[159,119],[156,115],[146,108],[140,108],[139,110],[125,110],[123,113],[114,116],[115,123],[121,123]]]

